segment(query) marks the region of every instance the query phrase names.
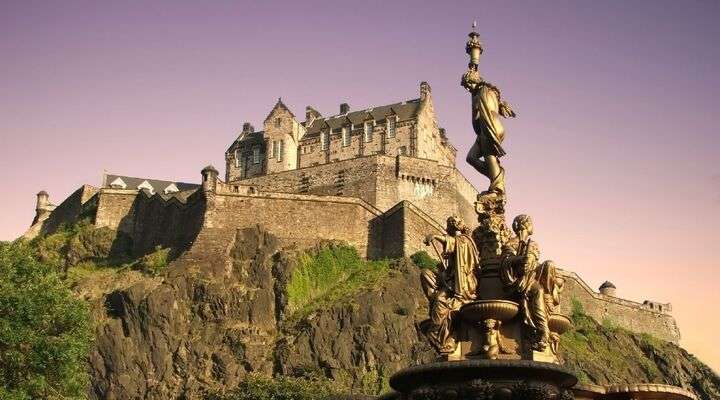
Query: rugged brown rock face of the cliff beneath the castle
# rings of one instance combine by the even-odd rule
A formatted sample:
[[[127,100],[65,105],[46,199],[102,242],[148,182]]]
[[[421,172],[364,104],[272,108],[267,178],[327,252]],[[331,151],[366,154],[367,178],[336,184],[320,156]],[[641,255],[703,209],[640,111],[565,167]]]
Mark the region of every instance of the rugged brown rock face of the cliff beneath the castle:
[[[374,394],[386,390],[397,370],[435,358],[417,328],[427,301],[410,261],[395,263],[371,290],[293,319],[286,285],[297,250],[280,248],[261,228],[238,231],[228,246],[217,243],[199,240],[162,277],[133,279],[91,300],[91,398],[198,398],[232,389],[249,373],[322,374],[349,391]],[[682,349],[613,334],[607,346],[652,360],[653,381],[716,398],[717,375]],[[634,372],[641,368],[637,360],[610,375],[602,360],[588,363],[581,351],[570,350],[568,365],[589,382],[642,378]]]

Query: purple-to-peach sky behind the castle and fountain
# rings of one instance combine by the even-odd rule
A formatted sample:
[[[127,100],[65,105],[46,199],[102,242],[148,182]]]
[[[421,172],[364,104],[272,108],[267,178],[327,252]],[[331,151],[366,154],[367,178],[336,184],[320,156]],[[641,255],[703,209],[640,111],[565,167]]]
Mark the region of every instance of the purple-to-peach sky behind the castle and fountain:
[[[0,239],[35,193],[109,172],[198,182],[278,97],[296,115],[433,88],[462,153],[473,19],[483,75],[518,118],[512,215],[597,287],[669,301],[682,344],[720,369],[720,2],[0,2]]]

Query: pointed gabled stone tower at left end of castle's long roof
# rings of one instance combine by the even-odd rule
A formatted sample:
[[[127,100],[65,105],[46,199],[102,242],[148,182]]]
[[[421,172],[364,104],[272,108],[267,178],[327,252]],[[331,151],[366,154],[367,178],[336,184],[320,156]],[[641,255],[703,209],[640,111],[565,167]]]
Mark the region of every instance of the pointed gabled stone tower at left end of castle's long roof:
[[[288,171],[298,167],[298,143],[305,129],[295,119],[282,99],[264,121],[266,173]]]

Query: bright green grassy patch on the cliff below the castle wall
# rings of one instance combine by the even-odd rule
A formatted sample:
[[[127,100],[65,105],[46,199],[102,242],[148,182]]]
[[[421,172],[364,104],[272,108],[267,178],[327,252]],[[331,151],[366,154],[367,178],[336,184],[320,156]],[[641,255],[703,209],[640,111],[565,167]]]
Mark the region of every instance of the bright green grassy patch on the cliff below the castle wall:
[[[287,284],[288,309],[302,317],[324,304],[375,287],[389,270],[389,261],[365,261],[346,245],[329,244],[301,253]]]

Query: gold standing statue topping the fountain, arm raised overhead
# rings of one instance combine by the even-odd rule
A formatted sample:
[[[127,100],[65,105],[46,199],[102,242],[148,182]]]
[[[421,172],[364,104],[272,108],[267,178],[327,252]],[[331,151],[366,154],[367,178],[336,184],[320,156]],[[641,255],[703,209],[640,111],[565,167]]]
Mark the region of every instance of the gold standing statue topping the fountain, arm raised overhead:
[[[505,128],[500,117],[515,117],[515,112],[502,100],[500,89],[480,76],[478,63],[483,52],[482,44],[474,29],[468,36],[466,51],[470,55],[470,63],[461,85],[471,94],[473,130],[477,137],[466,160],[490,179],[490,187],[484,193],[502,196],[505,193],[505,170],[500,165],[500,157],[506,153],[502,148]]]

